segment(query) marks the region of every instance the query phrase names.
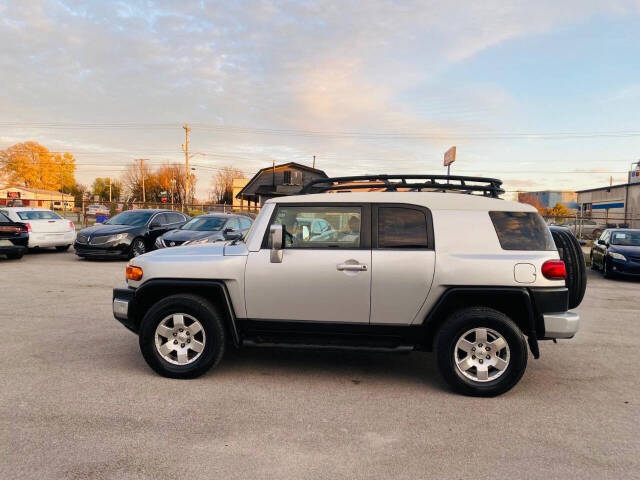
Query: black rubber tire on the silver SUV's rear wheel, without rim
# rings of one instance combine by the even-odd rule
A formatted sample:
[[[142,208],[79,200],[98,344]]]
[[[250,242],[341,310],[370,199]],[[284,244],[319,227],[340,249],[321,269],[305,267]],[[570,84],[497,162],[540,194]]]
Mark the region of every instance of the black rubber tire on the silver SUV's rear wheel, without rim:
[[[504,372],[494,380],[474,381],[464,377],[455,362],[456,343],[473,328],[489,328],[505,339],[510,359]],[[486,307],[468,307],[452,313],[435,338],[438,370],[458,393],[474,397],[494,397],[513,388],[527,368],[527,342],[518,326],[505,314]],[[473,367],[472,367],[473,368]]]

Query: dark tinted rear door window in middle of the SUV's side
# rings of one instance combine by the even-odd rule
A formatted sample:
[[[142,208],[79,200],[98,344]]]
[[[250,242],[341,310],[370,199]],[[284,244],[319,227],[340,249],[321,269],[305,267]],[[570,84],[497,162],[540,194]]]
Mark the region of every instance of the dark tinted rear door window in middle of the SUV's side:
[[[427,217],[422,210],[378,209],[378,248],[428,248]]]

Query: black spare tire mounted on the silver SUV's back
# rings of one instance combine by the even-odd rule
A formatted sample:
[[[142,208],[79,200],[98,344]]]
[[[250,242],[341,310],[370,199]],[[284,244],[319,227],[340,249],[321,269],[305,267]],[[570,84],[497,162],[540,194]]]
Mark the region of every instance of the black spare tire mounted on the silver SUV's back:
[[[576,308],[582,302],[587,289],[587,264],[578,239],[564,227],[551,227],[553,241],[560,258],[567,267],[565,285],[569,289],[569,308]]]

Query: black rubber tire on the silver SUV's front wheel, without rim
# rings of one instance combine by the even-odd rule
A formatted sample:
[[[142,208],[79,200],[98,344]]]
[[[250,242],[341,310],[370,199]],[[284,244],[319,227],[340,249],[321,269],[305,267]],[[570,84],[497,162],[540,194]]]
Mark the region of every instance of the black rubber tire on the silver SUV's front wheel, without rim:
[[[185,313],[197,319],[203,327],[206,341],[198,358],[186,365],[176,365],[162,358],[156,348],[158,324],[172,313]],[[210,302],[197,295],[172,295],[160,300],[145,314],[140,326],[140,351],[149,366],[169,378],[195,378],[216,366],[225,350],[225,330],[222,315]]]

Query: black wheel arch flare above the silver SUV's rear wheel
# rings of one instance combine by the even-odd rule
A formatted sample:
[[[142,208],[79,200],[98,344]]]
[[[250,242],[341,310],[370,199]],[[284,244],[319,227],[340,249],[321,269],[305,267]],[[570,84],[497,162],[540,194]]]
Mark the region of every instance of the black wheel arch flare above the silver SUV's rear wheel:
[[[447,317],[462,308],[482,306],[492,308],[511,318],[527,336],[535,358],[539,356],[535,307],[531,294],[519,287],[451,287],[429,311],[423,322],[424,344],[434,348],[435,336]]]

